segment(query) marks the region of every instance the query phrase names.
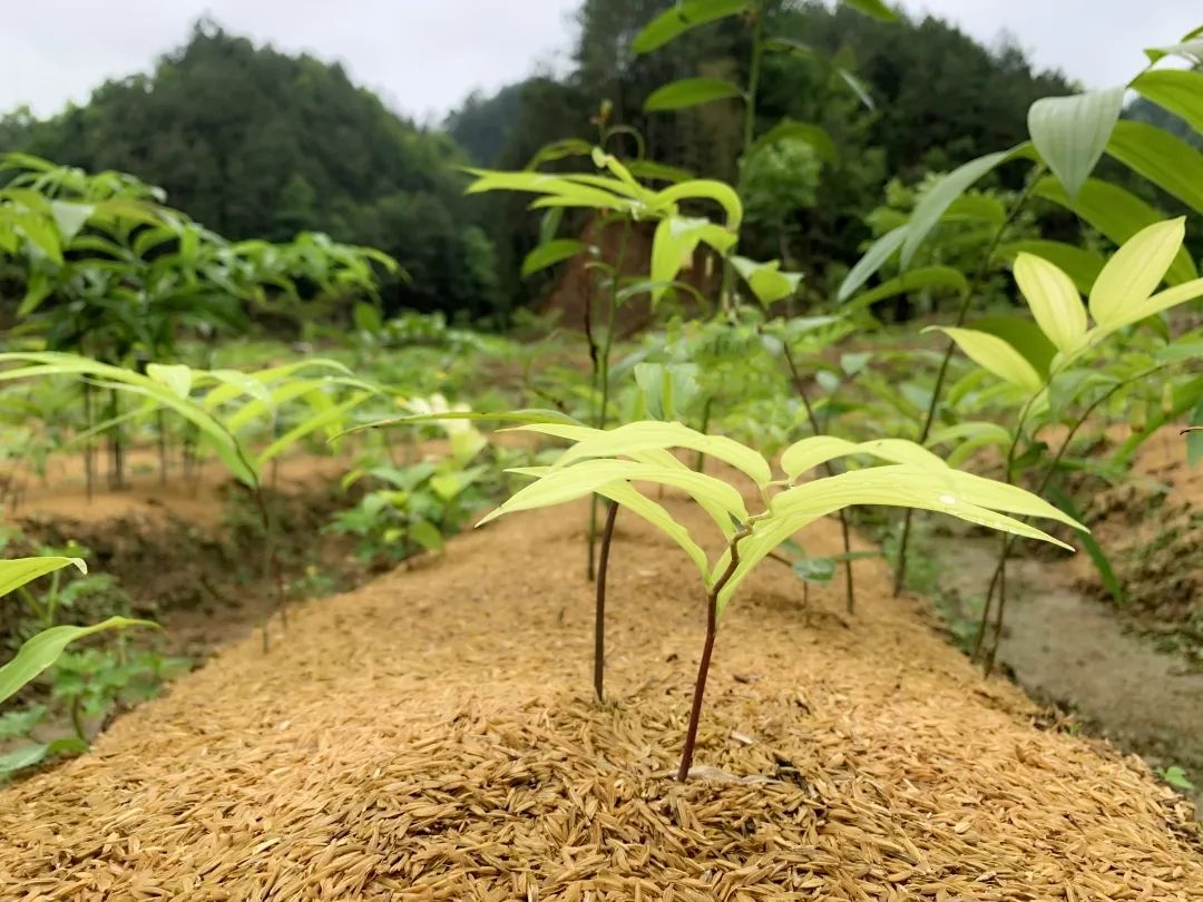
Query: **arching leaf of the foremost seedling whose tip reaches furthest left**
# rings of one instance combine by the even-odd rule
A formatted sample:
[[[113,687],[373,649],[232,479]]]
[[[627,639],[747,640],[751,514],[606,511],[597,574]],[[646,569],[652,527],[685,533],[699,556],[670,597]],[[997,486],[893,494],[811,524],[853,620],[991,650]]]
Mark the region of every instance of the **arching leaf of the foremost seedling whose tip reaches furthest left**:
[[[742,522],[748,518],[743,498],[719,479],[692,470],[636,463],[634,461],[582,461],[574,467],[552,468],[538,482],[520,489],[505,504],[478,523],[484,526],[504,514],[551,508],[597,492],[602,486],[623,480],[672,486],[693,498],[705,498]]]

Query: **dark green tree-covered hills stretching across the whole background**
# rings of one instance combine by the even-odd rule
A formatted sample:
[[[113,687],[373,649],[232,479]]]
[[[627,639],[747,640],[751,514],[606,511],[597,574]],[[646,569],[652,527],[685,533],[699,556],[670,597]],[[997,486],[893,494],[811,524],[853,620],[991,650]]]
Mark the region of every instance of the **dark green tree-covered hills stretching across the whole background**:
[[[136,173],[233,238],[316,230],[378,247],[411,275],[387,287],[390,308],[504,318],[546,287],[518,275],[538,241],[537,218],[512,197],[463,197],[456,162],[522,167],[547,142],[594,140],[591,120],[606,102],[611,121],[644,142],[624,153],[739,178],[736,103],[678,113],[644,105],[672,78],[740,81],[746,29],[730,20],[664,52],[633,54],[634,35],[666,5],[585,0],[567,76],[474,95],[449,115],[445,133],[390,111],[337,64],[255,47],[205,20],[150,75],[103,84],[87,106],[45,121],[0,118],[0,149]],[[934,18],[887,24],[820,2],[770,13],[790,52],[766,61],[757,131],[789,117],[820,125],[834,147],[828,159],[802,148],[748,167],[742,176],[764,179],[765,201],[749,204],[748,229],[753,247],[759,224],[774,236],[764,250],[814,273],[854,259],[890,177],[913,182],[1021,141],[1029,105],[1071,90],[1059,75],[1033,72],[1014,46],[986,49]],[[775,170],[807,173],[786,207]]]

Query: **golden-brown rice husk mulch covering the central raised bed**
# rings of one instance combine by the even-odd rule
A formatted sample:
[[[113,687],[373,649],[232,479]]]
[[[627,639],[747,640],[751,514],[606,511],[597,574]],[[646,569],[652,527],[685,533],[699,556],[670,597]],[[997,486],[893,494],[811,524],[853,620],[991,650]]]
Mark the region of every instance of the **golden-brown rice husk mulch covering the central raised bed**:
[[[852,617],[838,583],[746,583],[675,782],[697,572],[620,517],[597,705],[582,523],[506,518],[304,605],[0,791],[0,897],[1203,900],[1192,808],[1039,729],[877,562]]]

